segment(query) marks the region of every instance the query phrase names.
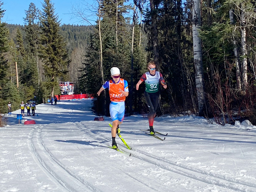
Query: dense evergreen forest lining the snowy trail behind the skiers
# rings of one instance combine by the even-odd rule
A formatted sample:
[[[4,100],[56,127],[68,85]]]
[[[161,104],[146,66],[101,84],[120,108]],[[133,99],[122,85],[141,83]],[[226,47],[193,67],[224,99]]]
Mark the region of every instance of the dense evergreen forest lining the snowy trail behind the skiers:
[[[256,124],[254,0],[93,0],[72,8],[84,25],[61,25],[54,0],[42,6],[31,2],[24,25],[11,25],[1,20],[0,1],[1,114],[9,101],[13,110],[21,101],[39,104],[60,93],[59,81],[70,81],[75,93],[97,97],[96,114],[109,116],[108,89],[96,93],[112,67],[129,85],[126,115],[147,114],[145,84],[135,86],[154,61],[167,84],[157,116]]]

